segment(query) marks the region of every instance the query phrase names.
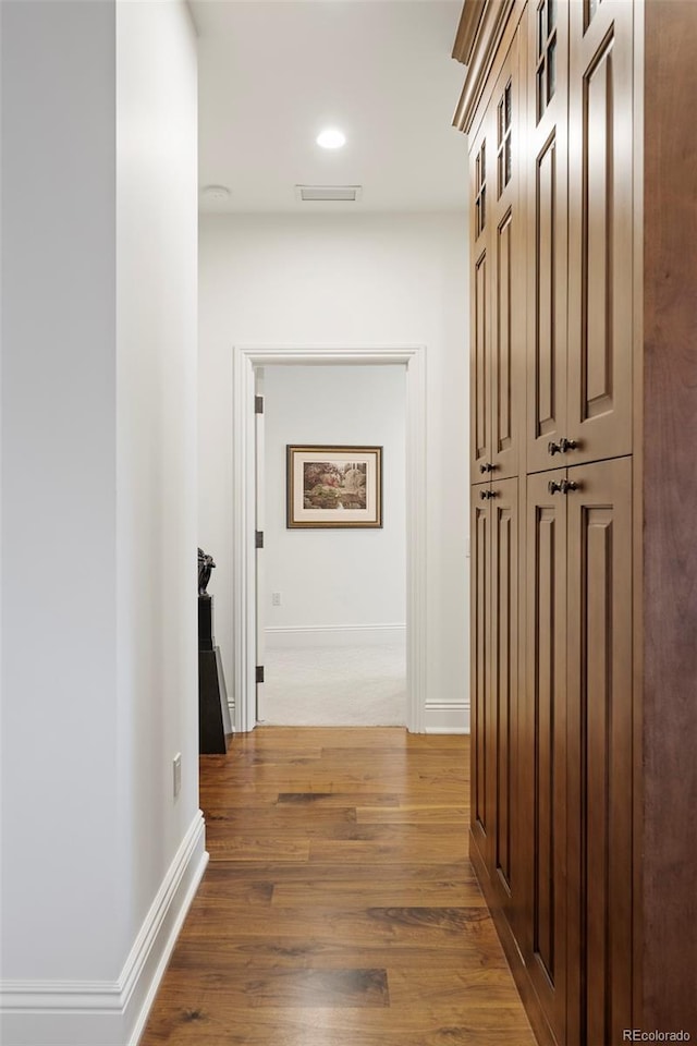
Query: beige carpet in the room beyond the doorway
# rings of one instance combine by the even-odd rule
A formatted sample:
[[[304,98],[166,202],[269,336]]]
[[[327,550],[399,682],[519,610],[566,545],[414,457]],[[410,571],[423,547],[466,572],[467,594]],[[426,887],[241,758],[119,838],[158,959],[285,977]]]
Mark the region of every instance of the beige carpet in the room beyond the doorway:
[[[404,645],[267,650],[259,721],[276,726],[401,727]]]

